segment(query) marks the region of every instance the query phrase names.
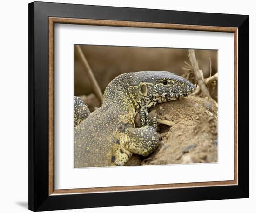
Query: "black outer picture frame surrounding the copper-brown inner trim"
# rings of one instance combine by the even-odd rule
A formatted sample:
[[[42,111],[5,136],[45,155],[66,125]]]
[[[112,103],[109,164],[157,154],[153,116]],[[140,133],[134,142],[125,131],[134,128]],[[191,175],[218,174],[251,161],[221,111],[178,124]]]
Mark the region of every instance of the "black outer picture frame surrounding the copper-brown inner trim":
[[[238,27],[238,185],[49,195],[48,17]],[[33,2],[29,4],[28,21],[28,206],[30,210],[46,211],[249,197],[248,15]]]

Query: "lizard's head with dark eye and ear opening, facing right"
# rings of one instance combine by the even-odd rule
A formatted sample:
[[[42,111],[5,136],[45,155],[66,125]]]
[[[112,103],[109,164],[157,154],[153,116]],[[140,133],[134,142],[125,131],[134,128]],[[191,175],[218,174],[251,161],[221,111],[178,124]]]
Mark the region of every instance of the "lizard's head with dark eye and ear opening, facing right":
[[[136,76],[140,81],[137,81],[139,94],[136,100],[140,105],[146,104],[148,108],[186,97],[195,89],[189,80],[167,71],[141,71],[137,72]]]

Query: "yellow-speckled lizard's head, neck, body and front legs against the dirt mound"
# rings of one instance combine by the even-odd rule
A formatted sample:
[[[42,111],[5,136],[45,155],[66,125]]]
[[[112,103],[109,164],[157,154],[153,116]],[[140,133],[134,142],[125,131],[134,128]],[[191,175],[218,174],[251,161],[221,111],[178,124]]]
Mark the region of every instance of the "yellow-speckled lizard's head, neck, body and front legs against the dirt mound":
[[[148,109],[194,89],[188,80],[167,71],[117,76],[108,84],[102,106],[75,127],[74,166],[123,166],[133,153],[148,156],[159,146]],[[135,128],[135,115],[141,112],[142,126]]]

